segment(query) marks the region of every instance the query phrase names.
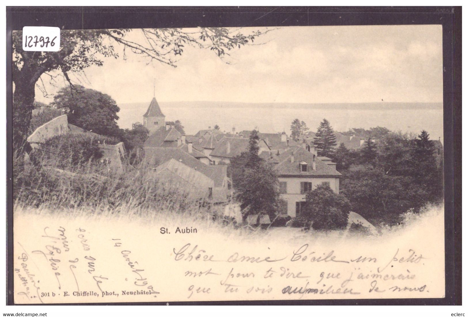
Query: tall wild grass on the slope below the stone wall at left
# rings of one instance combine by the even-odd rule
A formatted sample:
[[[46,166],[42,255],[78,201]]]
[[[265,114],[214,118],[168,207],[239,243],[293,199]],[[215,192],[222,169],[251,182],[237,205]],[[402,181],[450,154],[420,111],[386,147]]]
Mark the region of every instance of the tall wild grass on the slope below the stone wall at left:
[[[163,186],[154,179],[146,161],[131,166],[124,161],[124,173],[110,170],[98,155],[69,159],[70,154],[34,150],[23,164],[14,158],[15,207],[56,213],[128,214],[211,210],[204,201],[191,198],[183,189]],[[94,151],[94,150],[93,150]]]

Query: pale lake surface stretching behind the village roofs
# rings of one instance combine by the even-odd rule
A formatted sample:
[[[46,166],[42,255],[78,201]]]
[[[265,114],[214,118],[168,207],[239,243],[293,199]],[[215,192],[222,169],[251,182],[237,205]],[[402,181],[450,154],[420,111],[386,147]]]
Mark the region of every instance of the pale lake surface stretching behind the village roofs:
[[[143,122],[148,102],[120,104],[121,128]],[[187,134],[218,124],[221,131],[252,130],[290,133],[292,120],[298,118],[316,131],[323,118],[335,131],[351,128],[386,127],[393,131],[419,133],[426,130],[431,139],[443,141],[442,103],[368,103],[368,104],[284,104],[236,102],[159,102],[166,121],[180,120]]]

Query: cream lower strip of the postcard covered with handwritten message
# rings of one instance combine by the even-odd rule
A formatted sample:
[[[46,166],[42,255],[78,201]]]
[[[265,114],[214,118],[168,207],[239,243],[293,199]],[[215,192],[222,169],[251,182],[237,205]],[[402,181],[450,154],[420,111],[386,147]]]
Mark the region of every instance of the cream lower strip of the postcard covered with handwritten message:
[[[15,303],[442,297],[443,216],[431,223],[378,237],[162,235],[141,223],[19,215]]]

